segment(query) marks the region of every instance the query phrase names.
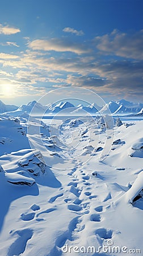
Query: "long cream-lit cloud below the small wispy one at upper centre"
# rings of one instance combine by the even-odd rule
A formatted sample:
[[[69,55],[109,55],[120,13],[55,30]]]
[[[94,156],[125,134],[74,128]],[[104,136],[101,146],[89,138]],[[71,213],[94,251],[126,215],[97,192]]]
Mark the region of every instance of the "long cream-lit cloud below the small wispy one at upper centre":
[[[87,49],[83,44],[69,42],[65,39],[49,39],[49,40],[33,40],[28,44],[33,50],[56,51],[56,52],[74,52],[77,54],[87,53]]]

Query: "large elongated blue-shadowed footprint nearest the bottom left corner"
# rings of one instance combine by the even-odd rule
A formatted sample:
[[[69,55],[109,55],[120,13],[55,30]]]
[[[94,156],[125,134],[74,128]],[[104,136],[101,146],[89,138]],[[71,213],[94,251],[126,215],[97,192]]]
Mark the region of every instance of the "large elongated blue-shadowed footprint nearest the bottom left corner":
[[[32,229],[23,229],[23,230],[16,230],[13,234],[18,235],[18,238],[15,240],[14,243],[9,247],[9,251],[7,256],[13,255],[21,255],[26,250],[26,245],[28,240],[32,238],[33,230]]]

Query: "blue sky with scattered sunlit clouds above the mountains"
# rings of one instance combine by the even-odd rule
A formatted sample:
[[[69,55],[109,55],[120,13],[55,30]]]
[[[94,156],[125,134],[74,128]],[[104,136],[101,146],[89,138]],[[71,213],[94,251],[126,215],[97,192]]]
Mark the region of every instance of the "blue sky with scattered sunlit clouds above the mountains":
[[[0,100],[74,86],[142,102],[142,12],[142,0],[1,1]]]

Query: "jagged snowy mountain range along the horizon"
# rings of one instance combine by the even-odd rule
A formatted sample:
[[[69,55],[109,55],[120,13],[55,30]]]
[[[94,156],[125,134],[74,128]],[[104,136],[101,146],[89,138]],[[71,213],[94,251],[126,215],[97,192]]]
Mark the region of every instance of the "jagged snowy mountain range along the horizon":
[[[35,107],[34,110],[33,106]],[[97,110],[98,109],[98,110]],[[126,100],[120,101],[110,101],[103,106],[103,108],[99,107],[95,103],[90,104],[88,106],[83,106],[79,104],[78,106],[74,106],[72,103],[66,102],[56,102],[53,104],[48,104],[47,106],[43,106],[36,101],[29,102],[27,105],[22,105],[19,108],[14,105],[5,105],[2,101],[0,101],[0,113],[7,113],[12,116],[21,115],[23,113],[30,114],[32,110],[32,114],[56,114],[60,113],[61,110],[64,110],[65,113],[72,113],[75,115],[80,114],[95,114],[100,110],[100,113],[107,114],[108,109],[113,115],[122,115],[122,114],[140,114],[142,115],[143,104],[138,102],[130,102]]]

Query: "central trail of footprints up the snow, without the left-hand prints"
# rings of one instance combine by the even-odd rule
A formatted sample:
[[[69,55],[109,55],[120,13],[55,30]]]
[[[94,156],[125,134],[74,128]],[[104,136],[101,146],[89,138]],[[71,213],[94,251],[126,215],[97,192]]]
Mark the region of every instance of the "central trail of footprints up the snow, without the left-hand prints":
[[[80,166],[79,166],[80,168]],[[69,172],[68,175],[71,176],[71,178],[73,179],[72,182],[70,182],[68,184],[68,187],[70,187],[70,192],[73,193],[77,199],[75,199],[74,201],[72,199],[70,199],[69,197],[64,199],[65,203],[68,204],[68,209],[71,210],[72,212],[75,212],[75,214],[78,214],[77,218],[74,218],[73,220],[74,222],[74,228],[70,229],[68,233],[64,233],[60,238],[57,238],[55,246],[53,248],[53,250],[51,251],[51,256],[54,256],[55,253],[56,255],[61,255],[61,253],[57,250],[57,246],[59,248],[61,248],[62,246],[65,245],[67,240],[70,241],[74,241],[78,238],[78,233],[83,231],[85,229],[86,223],[82,224],[83,222],[83,215],[84,214],[89,214],[90,213],[90,200],[92,199],[96,199],[98,196],[97,195],[91,195],[90,190],[90,176],[86,175],[82,170],[81,175],[82,175],[82,183],[79,182],[78,176],[75,174],[75,171],[79,172],[79,169],[73,169],[72,172]],[[81,187],[80,187],[80,184]],[[86,191],[85,191],[86,190]],[[87,202],[83,202],[82,198],[82,194],[84,193],[84,195],[87,196],[87,198],[89,199],[89,201]],[[107,200],[110,200],[111,197],[111,193],[109,192],[108,195],[106,196],[106,198],[103,200],[103,202],[106,202]],[[97,207],[94,208],[95,213],[90,215],[90,221],[91,222],[100,222],[102,221],[102,217],[100,216],[100,213],[103,212],[103,205],[99,205]],[[70,223],[71,224],[71,223]],[[70,226],[70,225],[69,225]],[[72,232],[72,233],[71,233]],[[70,237],[69,237],[70,234]],[[71,237],[72,234],[72,237]],[[98,240],[102,243],[104,240],[110,239],[112,238],[112,230],[108,230],[105,228],[98,228],[95,231],[95,235],[98,238]],[[62,241],[60,243],[60,241]]]

